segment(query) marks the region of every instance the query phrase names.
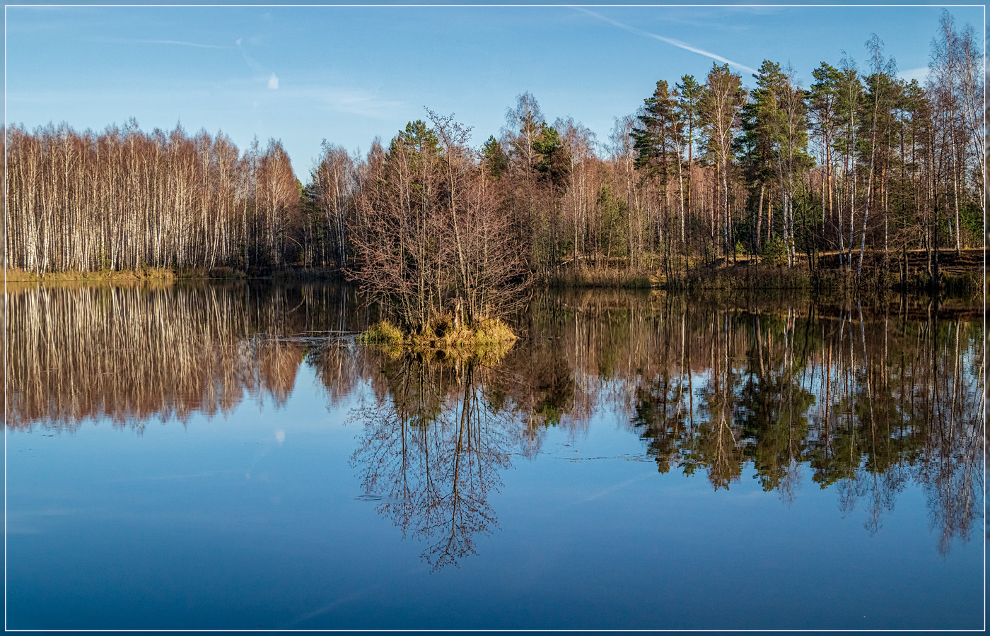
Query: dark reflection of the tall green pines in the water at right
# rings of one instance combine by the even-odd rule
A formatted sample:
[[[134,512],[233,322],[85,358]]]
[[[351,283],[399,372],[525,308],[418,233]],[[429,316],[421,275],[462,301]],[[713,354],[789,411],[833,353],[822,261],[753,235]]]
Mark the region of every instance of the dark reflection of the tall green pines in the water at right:
[[[933,309],[671,308],[655,318],[659,360],[638,363],[632,422],[660,472],[705,467],[717,490],[748,463],[763,490],[793,500],[807,465],[843,513],[865,503],[871,533],[919,483],[947,550],[982,498],[985,367],[981,325]]]

